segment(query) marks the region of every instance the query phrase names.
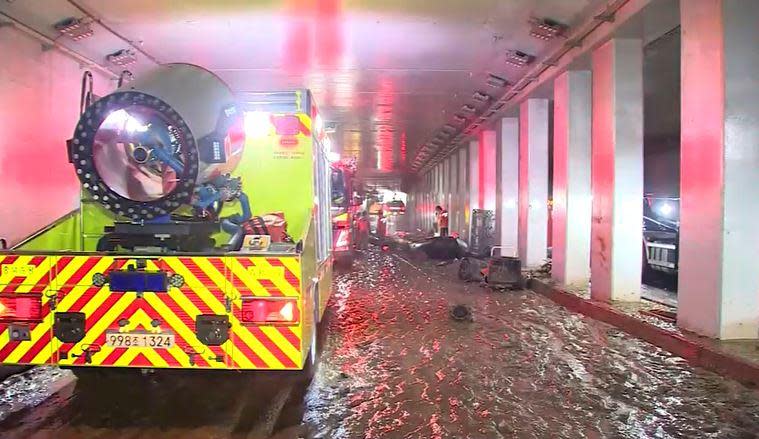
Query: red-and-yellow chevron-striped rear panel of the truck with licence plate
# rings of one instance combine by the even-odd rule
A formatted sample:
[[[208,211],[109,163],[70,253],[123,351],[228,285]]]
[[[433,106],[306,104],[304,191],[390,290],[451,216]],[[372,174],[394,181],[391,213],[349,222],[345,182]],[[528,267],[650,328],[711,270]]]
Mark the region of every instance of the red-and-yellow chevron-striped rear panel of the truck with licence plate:
[[[123,270],[137,259],[0,255],[0,301],[12,305],[19,297],[34,297],[41,306],[38,318],[33,319],[0,312],[0,363],[236,370],[303,367],[316,302],[301,294],[297,256],[143,258],[147,270],[183,280],[181,286],[169,286],[165,292],[111,291],[108,284],[98,282],[98,275]],[[253,309],[243,306],[248,301],[290,303],[290,321],[254,321],[252,314],[245,314]]]

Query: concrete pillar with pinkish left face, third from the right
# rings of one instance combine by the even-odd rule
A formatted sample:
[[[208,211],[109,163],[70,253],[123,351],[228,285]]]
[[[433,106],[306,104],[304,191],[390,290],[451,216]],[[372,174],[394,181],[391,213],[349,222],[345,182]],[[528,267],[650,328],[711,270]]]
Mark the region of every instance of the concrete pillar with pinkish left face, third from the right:
[[[551,276],[565,285],[590,278],[591,75],[569,71],[554,82],[553,251]]]

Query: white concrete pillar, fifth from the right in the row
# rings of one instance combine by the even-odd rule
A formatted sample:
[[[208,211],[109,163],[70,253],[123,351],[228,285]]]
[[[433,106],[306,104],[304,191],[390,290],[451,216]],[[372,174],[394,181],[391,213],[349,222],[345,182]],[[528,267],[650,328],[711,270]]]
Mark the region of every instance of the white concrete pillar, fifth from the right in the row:
[[[519,119],[503,118],[496,125],[495,228],[501,255],[519,256]]]

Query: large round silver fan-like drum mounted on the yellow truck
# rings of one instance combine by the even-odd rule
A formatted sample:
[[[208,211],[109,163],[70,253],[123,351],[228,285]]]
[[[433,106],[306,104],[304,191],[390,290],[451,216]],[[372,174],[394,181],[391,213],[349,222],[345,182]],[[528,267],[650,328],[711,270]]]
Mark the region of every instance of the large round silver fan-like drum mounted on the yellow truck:
[[[90,198],[126,220],[107,228],[100,249],[199,250],[197,238],[219,230],[223,203],[245,199],[230,175],[244,143],[231,90],[195,65],[161,66],[95,101],[68,149]]]

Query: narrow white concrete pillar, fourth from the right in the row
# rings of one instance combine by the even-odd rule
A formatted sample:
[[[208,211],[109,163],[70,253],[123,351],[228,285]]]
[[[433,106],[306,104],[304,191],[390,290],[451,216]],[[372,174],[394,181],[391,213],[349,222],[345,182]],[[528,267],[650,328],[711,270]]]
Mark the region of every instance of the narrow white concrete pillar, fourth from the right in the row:
[[[540,266],[548,246],[548,100],[519,107],[519,258]]]

